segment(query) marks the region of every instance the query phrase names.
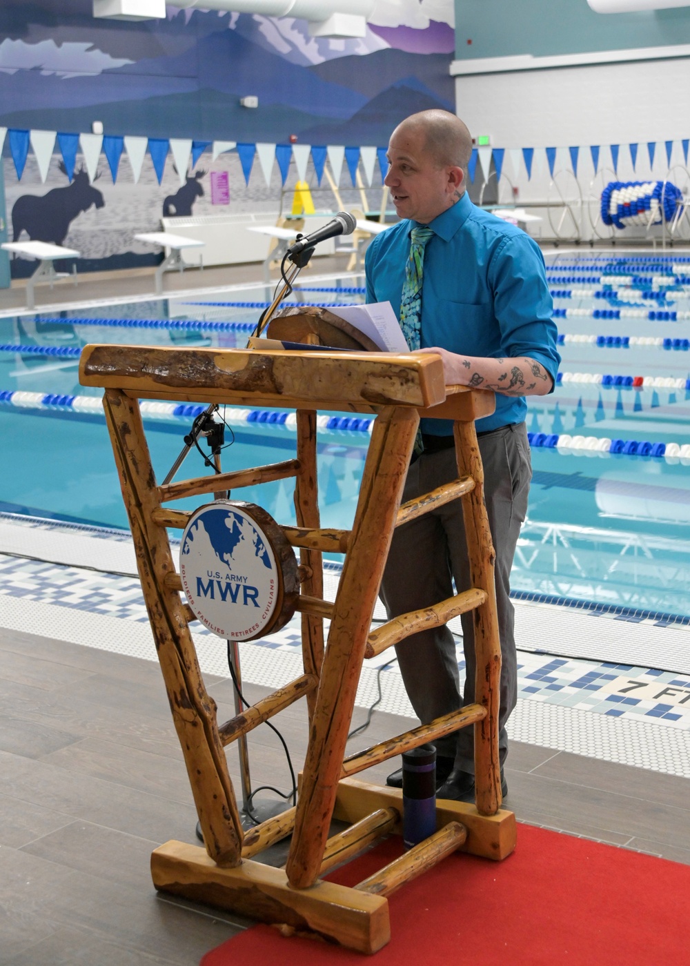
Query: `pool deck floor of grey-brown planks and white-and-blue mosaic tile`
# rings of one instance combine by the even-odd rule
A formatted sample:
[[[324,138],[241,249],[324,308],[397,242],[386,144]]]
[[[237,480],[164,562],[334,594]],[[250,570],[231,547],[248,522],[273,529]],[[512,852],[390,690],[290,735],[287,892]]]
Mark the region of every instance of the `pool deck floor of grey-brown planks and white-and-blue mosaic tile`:
[[[30,553],[28,529],[17,538],[8,520],[0,521],[0,530],[3,524],[0,964],[195,964],[248,923],[160,897],[151,885],[152,849],[169,838],[193,841],[196,814],[138,582],[85,569],[104,558],[128,574],[128,542],[42,524],[33,529],[46,552],[61,561],[46,563],[7,555],[22,547],[39,554]],[[329,582],[334,580],[331,572]],[[555,610],[519,606],[518,614],[525,626],[536,626],[560,619]],[[578,620],[591,623],[604,649],[607,629],[617,638],[620,624],[611,618],[568,615],[568,622]],[[661,641],[655,653],[667,665],[676,667],[687,657],[681,646],[690,640],[687,631],[644,632],[630,625],[633,637],[643,633]],[[666,634],[682,637],[664,649]],[[224,645],[208,634],[196,641],[207,687],[225,720],[233,714],[233,697]],[[562,635],[560,644],[569,646]],[[295,676],[297,645],[293,626],[243,645],[250,700]],[[618,653],[624,641],[611,646]],[[690,864],[690,781],[683,777],[690,715],[682,703],[690,675],[590,662],[573,653],[520,653],[506,807],[523,822]],[[382,671],[381,678],[379,710],[349,751],[411,724],[396,669]],[[639,704],[625,704],[628,694]],[[377,668],[367,667],[353,725],[363,722],[376,696]],[[623,713],[611,714],[617,711]],[[274,723],[300,767],[306,743],[302,704]],[[252,733],[249,754],[254,787],[271,783],[289,790],[283,752],[271,731]],[[234,751],[229,763],[239,787]],[[390,767],[371,769],[368,780],[385,781]]]

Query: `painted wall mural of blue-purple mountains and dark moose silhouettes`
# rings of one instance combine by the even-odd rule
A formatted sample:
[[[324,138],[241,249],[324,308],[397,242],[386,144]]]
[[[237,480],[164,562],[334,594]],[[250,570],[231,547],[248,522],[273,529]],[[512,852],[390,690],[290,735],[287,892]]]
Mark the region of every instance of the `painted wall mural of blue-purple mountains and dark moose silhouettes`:
[[[4,0],[0,126],[78,132],[98,120],[106,134],[385,145],[408,114],[454,109],[452,10],[452,0],[379,0],[365,38],[336,40],[309,37],[305,21],[258,14],[169,8],[165,20],[126,22],[94,19],[91,0]],[[240,105],[247,95],[257,109]],[[158,254],[132,235],[158,229],[164,214],[222,211],[212,206],[215,175],[227,178],[233,213],[277,213],[296,180],[293,164],[283,188],[274,165],[267,185],[255,164],[247,185],[235,152],[215,161],[207,152],[197,165],[181,185],[168,157],[158,185],[148,156],[138,182],[123,159],[113,184],[101,156],[97,184],[77,155],[71,182],[56,148],[44,184],[32,153],[18,182],[6,144],[14,239],[76,248],[78,270],[153,264]],[[307,174],[317,208],[332,208],[311,163]],[[347,195],[347,169],[340,185],[344,203],[359,206]],[[34,266],[14,259],[13,275]]]

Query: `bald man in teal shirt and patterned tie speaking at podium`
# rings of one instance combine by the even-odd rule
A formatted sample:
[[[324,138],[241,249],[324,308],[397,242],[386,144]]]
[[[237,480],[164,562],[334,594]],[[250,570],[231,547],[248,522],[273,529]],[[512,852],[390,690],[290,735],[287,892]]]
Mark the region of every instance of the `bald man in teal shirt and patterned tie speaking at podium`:
[[[446,384],[496,392],[496,412],[477,420],[476,432],[496,549],[504,796],[505,722],[517,700],[509,578],[532,477],[525,396],[553,391],[561,357],[541,252],[525,232],[474,206],[465,190],[472,150],[468,128],[446,111],[422,111],[395,128],[385,184],[402,220],[367,249],[366,300],[390,301],[410,349],[443,357]],[[456,477],[452,422],[422,419],[403,500]],[[388,617],[452,596],[451,578],[458,592],[471,585],[460,499],[395,530],[381,587]],[[472,613],[462,626],[463,696],[447,627],[396,646],[422,723],[474,701]],[[473,739],[474,728],[463,728],[436,741],[439,797],[474,801]],[[388,784],[400,786],[402,772]]]

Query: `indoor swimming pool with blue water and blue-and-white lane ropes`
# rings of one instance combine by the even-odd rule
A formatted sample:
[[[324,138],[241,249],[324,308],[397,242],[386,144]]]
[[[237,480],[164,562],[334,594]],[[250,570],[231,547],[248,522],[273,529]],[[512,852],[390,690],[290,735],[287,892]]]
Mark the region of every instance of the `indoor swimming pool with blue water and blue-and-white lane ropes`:
[[[537,600],[690,619],[690,257],[677,251],[559,252],[547,265],[561,331],[562,376],[551,396],[530,405],[532,494],[513,569],[514,591]],[[313,287],[331,291],[304,292],[302,298],[361,300],[358,292],[332,291],[359,285],[358,278],[326,282]],[[98,404],[74,409],[68,402],[74,394],[93,396],[98,390],[78,385],[75,354],[26,350],[78,352],[92,341],[234,348],[244,345],[241,326],[253,324],[260,308],[222,302],[264,298],[260,287],[193,303],[163,299],[100,307],[99,318],[112,321],[107,326],[89,321],[83,311],[57,320],[41,315],[0,320],[0,343],[24,350],[0,352],[0,392],[6,390],[0,401],[5,442],[0,507],[127,526]],[[150,325],[115,324],[124,319]],[[154,327],[156,321],[164,327]],[[14,393],[9,401],[8,392]],[[237,442],[223,456],[227,469],[285,459],[292,451],[289,423],[247,422],[246,412],[230,415]],[[150,413],[146,421],[161,478],[191,418]],[[368,439],[365,428],[343,430],[332,427],[332,420],[331,429],[320,431],[327,526],[350,526]],[[201,471],[198,456],[188,459]],[[260,494],[258,488],[243,489],[237,496],[261,502],[281,523],[294,521],[287,481],[262,487]]]

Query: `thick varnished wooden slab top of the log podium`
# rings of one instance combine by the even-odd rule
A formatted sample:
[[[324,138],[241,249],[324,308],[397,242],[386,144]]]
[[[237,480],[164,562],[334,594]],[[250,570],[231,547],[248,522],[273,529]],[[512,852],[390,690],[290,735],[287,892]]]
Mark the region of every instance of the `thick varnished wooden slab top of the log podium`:
[[[424,412],[460,419],[488,415],[495,405],[491,392],[446,387],[440,355],[90,345],[79,382],[137,398],[345,412],[446,410],[447,397],[460,403],[461,394],[467,414]]]

